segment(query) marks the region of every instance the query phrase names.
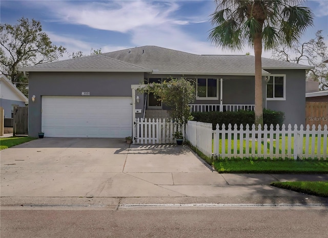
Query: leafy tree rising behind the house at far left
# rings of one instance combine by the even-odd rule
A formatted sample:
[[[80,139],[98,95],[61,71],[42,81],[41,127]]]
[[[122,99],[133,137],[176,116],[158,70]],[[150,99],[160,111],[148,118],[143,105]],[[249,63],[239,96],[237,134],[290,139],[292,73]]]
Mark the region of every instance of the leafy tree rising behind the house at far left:
[[[40,21],[20,18],[18,24],[0,24],[0,70],[17,88],[26,93],[27,79],[17,69],[57,60],[66,52],[63,46],[52,44],[48,35],[43,32]],[[19,85],[24,82],[24,86]],[[24,92],[25,91],[25,92]]]

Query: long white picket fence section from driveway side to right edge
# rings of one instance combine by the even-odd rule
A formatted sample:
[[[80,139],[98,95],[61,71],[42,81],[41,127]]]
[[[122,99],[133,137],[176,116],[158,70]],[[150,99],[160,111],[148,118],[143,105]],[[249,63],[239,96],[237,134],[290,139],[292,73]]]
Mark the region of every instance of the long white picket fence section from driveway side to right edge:
[[[327,158],[327,125],[323,129],[309,125],[256,129],[254,124],[252,128],[240,125],[238,129],[236,124],[216,128],[212,131],[211,123],[188,121],[187,139],[203,154],[221,158]]]

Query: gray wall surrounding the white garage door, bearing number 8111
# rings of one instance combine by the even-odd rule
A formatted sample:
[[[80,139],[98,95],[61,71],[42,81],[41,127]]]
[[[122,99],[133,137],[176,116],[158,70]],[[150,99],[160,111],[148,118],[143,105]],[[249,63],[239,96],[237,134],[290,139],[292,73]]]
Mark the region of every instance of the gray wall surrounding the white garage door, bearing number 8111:
[[[139,84],[144,73],[106,72],[30,72],[29,73],[29,136],[41,131],[42,96],[132,96],[131,84]],[[32,102],[35,95],[35,102]],[[136,104],[142,109],[144,98]]]

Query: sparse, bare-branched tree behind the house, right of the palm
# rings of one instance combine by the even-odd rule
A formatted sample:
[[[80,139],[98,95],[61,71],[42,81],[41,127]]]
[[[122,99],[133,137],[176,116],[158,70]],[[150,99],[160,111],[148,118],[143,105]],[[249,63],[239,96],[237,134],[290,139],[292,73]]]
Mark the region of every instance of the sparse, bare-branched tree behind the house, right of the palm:
[[[328,64],[322,62],[322,59],[328,57],[328,52],[322,30],[317,31],[314,38],[297,42],[291,48],[282,44],[277,45],[273,48],[272,57],[282,61],[314,66],[314,69],[308,71],[306,79],[317,81],[321,90],[328,90]]]

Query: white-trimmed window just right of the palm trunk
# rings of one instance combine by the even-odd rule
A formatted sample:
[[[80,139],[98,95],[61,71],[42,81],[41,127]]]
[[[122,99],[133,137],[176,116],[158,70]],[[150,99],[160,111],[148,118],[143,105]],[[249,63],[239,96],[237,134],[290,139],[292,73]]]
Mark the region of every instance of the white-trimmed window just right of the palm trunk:
[[[267,83],[267,99],[268,100],[285,100],[286,95],[286,76],[271,75]]]

